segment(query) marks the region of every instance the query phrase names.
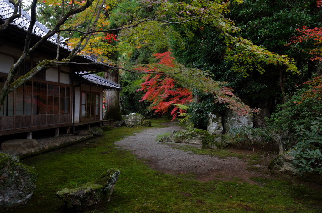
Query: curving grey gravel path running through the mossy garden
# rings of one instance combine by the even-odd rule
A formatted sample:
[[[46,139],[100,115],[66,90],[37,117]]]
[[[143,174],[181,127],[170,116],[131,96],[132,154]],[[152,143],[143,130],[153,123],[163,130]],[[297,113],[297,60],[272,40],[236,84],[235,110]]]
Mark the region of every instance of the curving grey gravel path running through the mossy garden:
[[[209,155],[197,155],[171,148],[171,146],[182,144],[158,142],[157,135],[182,129],[174,122],[166,124],[170,127],[145,130],[115,142],[115,144],[125,150],[131,150],[139,159],[149,159],[147,161],[149,166],[165,173],[193,173],[200,181],[233,180],[234,177],[238,177],[243,181],[253,183],[249,178],[254,174],[246,170],[246,162],[242,159],[237,157],[221,159]]]

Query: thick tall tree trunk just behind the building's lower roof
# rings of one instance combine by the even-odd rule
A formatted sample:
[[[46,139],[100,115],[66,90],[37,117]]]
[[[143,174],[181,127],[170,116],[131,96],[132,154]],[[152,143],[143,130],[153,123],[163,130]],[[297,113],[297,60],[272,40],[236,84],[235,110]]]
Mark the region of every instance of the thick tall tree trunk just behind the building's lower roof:
[[[118,83],[118,70],[106,72],[104,77],[112,82]],[[121,120],[119,91],[106,91],[106,114],[104,119]]]

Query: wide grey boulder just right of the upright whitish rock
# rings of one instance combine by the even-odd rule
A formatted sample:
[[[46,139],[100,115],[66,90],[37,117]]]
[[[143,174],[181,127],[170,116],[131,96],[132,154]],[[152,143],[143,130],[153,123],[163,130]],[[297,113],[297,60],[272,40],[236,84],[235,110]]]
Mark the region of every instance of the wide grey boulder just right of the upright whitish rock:
[[[241,116],[235,111],[228,109],[225,111],[225,115],[223,116],[223,125],[226,132],[228,132],[230,129],[242,126],[253,127],[253,116]]]

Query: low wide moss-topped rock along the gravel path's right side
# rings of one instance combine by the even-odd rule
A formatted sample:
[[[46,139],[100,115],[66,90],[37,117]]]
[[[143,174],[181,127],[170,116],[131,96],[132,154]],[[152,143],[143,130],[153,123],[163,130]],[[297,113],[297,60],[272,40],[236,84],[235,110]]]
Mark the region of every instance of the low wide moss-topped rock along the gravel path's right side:
[[[208,131],[201,129],[180,130],[173,134],[173,138],[176,143],[200,145],[208,149],[221,149],[228,145],[222,140],[222,136],[210,135]]]

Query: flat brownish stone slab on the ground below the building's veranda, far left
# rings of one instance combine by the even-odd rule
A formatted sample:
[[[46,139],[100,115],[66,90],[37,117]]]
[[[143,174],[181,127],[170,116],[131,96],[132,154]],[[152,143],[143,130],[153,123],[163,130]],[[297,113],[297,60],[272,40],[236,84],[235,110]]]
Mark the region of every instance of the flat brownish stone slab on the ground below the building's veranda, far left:
[[[1,144],[2,151],[21,152],[23,150],[33,149],[36,147],[38,147],[38,141],[34,139],[6,140]]]

